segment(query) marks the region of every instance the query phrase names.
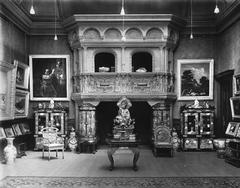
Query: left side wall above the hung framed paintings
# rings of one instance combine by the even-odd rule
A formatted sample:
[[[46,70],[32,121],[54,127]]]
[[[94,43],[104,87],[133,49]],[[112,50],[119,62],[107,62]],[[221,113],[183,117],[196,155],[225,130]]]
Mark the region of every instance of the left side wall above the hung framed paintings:
[[[27,63],[28,37],[11,22],[0,18],[0,61]]]

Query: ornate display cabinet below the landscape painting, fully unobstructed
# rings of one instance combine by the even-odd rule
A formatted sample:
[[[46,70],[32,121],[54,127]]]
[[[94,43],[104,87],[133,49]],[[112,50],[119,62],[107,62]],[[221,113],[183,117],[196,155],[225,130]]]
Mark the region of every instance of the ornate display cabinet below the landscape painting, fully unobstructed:
[[[182,148],[213,149],[214,108],[189,106],[181,108]]]

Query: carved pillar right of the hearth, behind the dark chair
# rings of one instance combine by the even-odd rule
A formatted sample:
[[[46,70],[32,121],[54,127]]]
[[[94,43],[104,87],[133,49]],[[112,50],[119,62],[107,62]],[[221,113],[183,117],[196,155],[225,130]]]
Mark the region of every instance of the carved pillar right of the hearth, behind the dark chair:
[[[159,102],[152,106],[153,109],[153,130],[158,126],[167,126],[171,129],[170,104]]]

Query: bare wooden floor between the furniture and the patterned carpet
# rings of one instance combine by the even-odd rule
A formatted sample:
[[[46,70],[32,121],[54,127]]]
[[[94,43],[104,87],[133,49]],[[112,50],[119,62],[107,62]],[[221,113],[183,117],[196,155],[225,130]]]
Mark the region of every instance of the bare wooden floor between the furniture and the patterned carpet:
[[[60,176],[60,177],[196,177],[240,176],[236,168],[215,152],[176,152],[173,158],[154,157],[148,148],[140,148],[138,171],[132,170],[132,153],[119,150],[114,154],[115,169],[109,171],[107,150],[96,154],[65,152],[65,159],[55,157],[42,159],[42,153],[27,151],[27,156],[16,159],[14,164],[0,164],[0,179],[5,176]]]

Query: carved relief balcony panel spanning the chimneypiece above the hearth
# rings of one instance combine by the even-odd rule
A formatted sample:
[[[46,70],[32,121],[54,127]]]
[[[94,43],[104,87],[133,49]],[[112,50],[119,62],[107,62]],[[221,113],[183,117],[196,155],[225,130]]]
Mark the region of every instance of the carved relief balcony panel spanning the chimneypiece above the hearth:
[[[83,73],[73,76],[72,99],[136,100],[175,99],[174,75],[170,73]]]

